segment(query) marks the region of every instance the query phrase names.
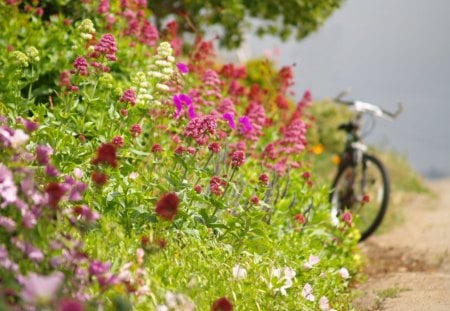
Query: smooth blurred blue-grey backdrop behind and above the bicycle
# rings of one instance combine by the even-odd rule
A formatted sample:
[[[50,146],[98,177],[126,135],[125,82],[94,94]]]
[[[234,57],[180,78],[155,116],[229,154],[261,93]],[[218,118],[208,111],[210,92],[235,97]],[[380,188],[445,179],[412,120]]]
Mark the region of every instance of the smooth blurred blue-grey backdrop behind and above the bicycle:
[[[297,42],[248,36],[249,57],[295,63],[298,99],[351,87],[359,99],[404,111],[378,119],[367,142],[404,154],[427,178],[450,176],[450,1],[347,0],[319,31]]]

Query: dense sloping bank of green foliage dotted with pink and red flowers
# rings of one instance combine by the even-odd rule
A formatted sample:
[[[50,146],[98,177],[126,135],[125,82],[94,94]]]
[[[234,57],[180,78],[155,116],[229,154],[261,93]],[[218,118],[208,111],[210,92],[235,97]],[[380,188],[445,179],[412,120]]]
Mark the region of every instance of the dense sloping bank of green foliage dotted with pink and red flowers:
[[[22,225],[20,202],[0,209],[0,216],[17,224],[13,230],[0,226],[0,247],[20,265],[20,273],[63,272],[59,296],[76,298],[88,310],[154,310],[170,306],[173,297],[187,310],[193,305],[211,309],[220,297],[237,310],[314,310],[321,298],[335,309],[351,309],[351,282],[361,266],[359,233],[344,222],[331,223],[328,189],[303,175],[305,152],[294,148],[305,142],[285,139],[292,120],[297,133],[303,125],[292,100],[282,108],[276,103],[287,96],[290,71],[255,61],[239,70],[229,66],[232,73],[226,74],[224,68],[213,70],[220,66],[208,55],[187,53],[180,56],[189,66],[186,73],[177,68],[167,42],[140,41],[125,31],[127,18],[117,3],[110,11],[114,25],[97,13],[98,2],[60,4],[69,3],[76,8],[70,21],[64,9],[39,17],[35,9],[27,13],[0,4],[2,16],[9,16],[0,20],[5,51],[0,56],[0,163],[15,174],[18,188],[21,167],[29,167],[29,182],[47,196],[49,185],[68,187],[76,181],[86,187],[80,197],[45,203],[34,228]],[[148,11],[138,11],[148,17]],[[104,53],[99,46],[106,41],[114,41],[117,51]],[[191,96],[197,116],[188,114],[189,101],[178,110],[175,97],[181,94]],[[238,126],[245,116],[259,131],[250,135],[222,119],[219,107],[225,99]],[[257,109],[253,116],[252,109]],[[194,127],[200,134],[192,130],[199,120],[206,120]],[[38,123],[38,129],[27,122]],[[13,146],[11,133],[24,131],[26,139]],[[213,152],[209,143],[221,149]],[[268,159],[270,144],[278,149]],[[48,163],[36,157],[38,146],[52,148]],[[236,154],[244,155],[238,164]],[[48,173],[50,164],[59,174]],[[217,188],[213,180],[219,181]],[[161,203],[168,194],[177,202],[169,216],[158,211],[174,204]],[[101,218],[86,221],[83,208]],[[11,243],[17,236],[42,250],[40,265]],[[59,240],[66,243],[64,251],[52,246]],[[77,256],[68,255],[75,250]],[[56,255],[68,263],[52,264]],[[91,266],[97,261],[110,267],[105,264],[107,271],[96,274]],[[236,272],[239,267],[246,273]],[[0,272],[0,301],[47,309],[60,305],[56,292],[45,301],[27,301],[18,271],[2,261]],[[85,282],[76,283],[83,276]],[[3,288],[13,289],[14,301]]]

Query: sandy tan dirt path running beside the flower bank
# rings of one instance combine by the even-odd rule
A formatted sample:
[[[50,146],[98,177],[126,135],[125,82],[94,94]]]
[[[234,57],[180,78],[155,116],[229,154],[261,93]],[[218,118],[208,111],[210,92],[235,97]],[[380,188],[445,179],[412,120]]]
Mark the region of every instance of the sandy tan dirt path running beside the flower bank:
[[[404,222],[363,243],[368,281],[357,310],[450,310],[450,180],[401,206]]]

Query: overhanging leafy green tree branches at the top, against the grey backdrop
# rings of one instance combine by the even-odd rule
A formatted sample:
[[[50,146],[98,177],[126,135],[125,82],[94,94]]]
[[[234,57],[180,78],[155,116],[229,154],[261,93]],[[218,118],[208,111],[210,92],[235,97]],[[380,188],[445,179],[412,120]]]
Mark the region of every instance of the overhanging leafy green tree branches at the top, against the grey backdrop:
[[[341,3],[342,0],[194,0],[149,1],[148,6],[158,20],[177,15],[187,31],[203,33],[213,25],[219,26],[223,32],[221,44],[235,48],[252,27],[260,36],[302,39],[316,31]]]

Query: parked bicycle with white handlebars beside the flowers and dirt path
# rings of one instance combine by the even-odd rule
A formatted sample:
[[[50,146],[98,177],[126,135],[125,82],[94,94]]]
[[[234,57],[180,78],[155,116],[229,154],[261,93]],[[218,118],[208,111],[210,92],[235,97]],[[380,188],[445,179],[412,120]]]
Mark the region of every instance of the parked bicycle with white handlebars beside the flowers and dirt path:
[[[403,106],[399,103],[397,111],[392,113],[362,101],[342,100],[344,95],[346,92],[338,95],[334,102],[350,107],[355,114],[349,122],[338,126],[338,130],[346,132],[347,139],[331,186],[331,214],[335,222],[346,210],[357,216],[355,224],[361,232],[360,241],[363,241],[383,221],[389,203],[390,179],[384,164],[368,153],[362,139],[373,130],[374,117],[395,120]],[[370,130],[362,135],[364,115],[372,116],[373,123]]]

